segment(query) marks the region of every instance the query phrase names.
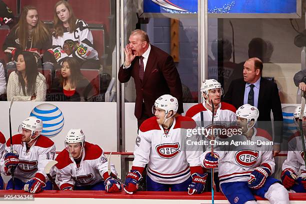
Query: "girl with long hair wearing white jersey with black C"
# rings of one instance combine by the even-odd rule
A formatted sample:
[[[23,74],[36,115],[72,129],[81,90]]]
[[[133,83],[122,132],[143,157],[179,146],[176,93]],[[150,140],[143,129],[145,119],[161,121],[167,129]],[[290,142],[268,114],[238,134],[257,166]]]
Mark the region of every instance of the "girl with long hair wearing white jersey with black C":
[[[92,34],[83,20],[76,19],[70,4],[65,0],[54,6],[54,32],[52,38],[56,61],[75,57],[80,68],[99,68],[97,51],[93,48]]]

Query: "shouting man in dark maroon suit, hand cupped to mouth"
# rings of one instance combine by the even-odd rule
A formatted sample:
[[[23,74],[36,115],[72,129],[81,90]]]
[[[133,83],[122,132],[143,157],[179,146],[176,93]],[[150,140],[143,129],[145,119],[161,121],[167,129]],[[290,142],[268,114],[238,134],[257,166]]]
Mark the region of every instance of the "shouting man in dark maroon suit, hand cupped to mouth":
[[[149,43],[147,33],[136,29],[131,32],[124,48],[125,59],[118,73],[121,83],[132,76],[135,81],[136,101],[134,114],[138,127],[153,116],[154,101],[163,94],[178,100],[178,113],[183,112],[181,81],[173,58]]]

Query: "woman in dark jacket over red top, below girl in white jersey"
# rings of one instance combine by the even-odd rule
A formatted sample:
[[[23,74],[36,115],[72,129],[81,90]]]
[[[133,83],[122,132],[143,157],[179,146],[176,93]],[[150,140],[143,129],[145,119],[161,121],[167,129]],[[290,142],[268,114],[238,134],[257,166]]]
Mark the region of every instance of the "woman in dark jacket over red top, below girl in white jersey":
[[[88,101],[93,95],[91,83],[80,72],[74,57],[65,58],[58,78],[54,78],[48,101]]]

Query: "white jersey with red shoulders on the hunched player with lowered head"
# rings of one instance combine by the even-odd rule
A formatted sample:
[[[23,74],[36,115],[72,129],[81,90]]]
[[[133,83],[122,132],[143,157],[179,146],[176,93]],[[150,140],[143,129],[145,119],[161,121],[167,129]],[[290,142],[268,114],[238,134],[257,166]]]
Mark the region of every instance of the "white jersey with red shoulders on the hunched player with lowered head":
[[[56,161],[58,163],[55,165],[55,182],[61,190],[73,188],[74,185],[94,185],[109,177],[107,158],[103,150],[96,144],[85,142],[78,167],[74,159],[69,156],[67,149],[63,149],[56,156]],[[113,164],[111,164],[111,172],[117,174]]]

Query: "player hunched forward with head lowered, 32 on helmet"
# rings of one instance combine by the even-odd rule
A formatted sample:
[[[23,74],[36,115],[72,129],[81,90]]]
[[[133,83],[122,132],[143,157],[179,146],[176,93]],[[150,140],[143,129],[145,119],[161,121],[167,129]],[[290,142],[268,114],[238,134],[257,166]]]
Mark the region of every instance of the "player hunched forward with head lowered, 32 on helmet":
[[[81,129],[70,129],[65,148],[56,156],[55,182],[61,190],[106,190],[118,192],[121,185],[108,175],[108,161],[103,150],[85,141]],[[114,165],[111,171],[116,175]]]

